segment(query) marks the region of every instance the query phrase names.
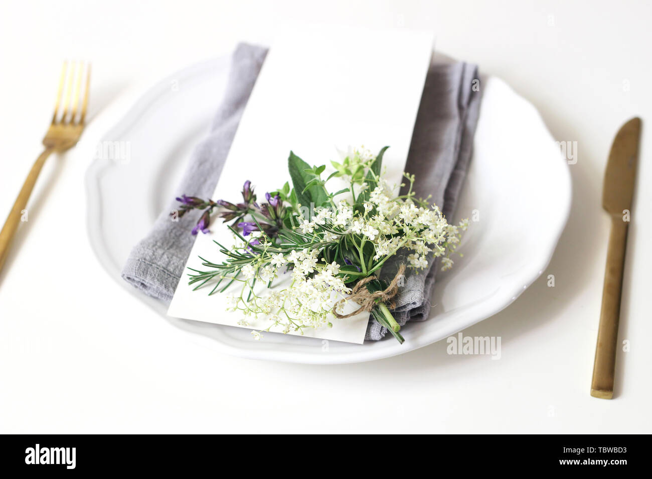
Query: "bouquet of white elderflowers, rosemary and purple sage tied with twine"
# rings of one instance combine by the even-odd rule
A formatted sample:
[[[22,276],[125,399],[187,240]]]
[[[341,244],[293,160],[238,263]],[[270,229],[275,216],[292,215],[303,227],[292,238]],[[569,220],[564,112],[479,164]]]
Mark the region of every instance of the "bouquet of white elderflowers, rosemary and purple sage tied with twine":
[[[192,269],[190,285],[195,289],[212,285],[212,295],[239,284],[229,310],[242,313],[239,324],[244,326],[248,317],[264,316],[269,318],[267,331],[303,332],[332,327],[335,318],[369,312],[402,343],[391,310],[404,270],[424,269],[433,256],[442,257],[442,269],[449,269],[467,221],[448,224],[437,205],[428,205],[428,198],[415,198],[414,175],[404,173],[406,184],[401,186],[409,182],[408,192],[396,196],[381,173],[386,150],[378,155],[366,149],[349,150],[341,163],[331,162],[334,172],[325,179],[325,165],[311,167],[290,152],[291,183],[266,193],[264,202],[257,201],[250,181],[244,182],[240,203],[177,198],[179,216],[203,210],[194,235],[209,231],[211,214],[217,209],[218,216],[230,222],[227,227],[235,239],[230,247],[216,242],[226,256],[221,263],[200,258],[205,269]],[[333,178],[347,187],[332,192],[327,184]],[[379,270],[402,248],[407,264],[384,274],[393,280],[383,282]],[[288,287],[261,290],[261,283],[271,288],[284,273],[291,274]],[[345,313],[347,299],[359,307]],[[260,331],[252,334],[261,338]]]

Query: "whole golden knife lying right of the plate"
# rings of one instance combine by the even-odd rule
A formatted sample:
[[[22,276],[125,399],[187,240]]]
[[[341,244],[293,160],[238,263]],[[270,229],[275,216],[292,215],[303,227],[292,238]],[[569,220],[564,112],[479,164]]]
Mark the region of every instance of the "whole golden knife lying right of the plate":
[[[612,218],[607,264],[602,287],[602,309],[598,327],[598,343],[595,347],[591,396],[611,399],[614,397],[615,353],[620,316],[620,297],[625,267],[625,246],[627,226],[632,209],[632,194],[636,182],[638,161],[638,139],[641,134],[641,119],[632,118],[625,123],[614,138],[609,152],[602,207]]]

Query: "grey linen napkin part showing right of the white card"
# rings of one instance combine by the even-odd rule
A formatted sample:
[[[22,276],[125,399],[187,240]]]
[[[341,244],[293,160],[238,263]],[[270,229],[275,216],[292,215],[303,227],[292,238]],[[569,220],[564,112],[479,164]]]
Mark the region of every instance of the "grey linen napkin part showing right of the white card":
[[[477,87],[474,88],[474,85]],[[417,197],[435,203],[451,220],[466,170],[471,160],[473,134],[480,110],[478,68],[468,63],[430,65],[417,113],[417,121],[406,162],[406,171],[416,176]],[[402,191],[405,194],[406,191]],[[406,255],[398,252],[389,259],[381,278],[391,280]],[[430,293],[439,261],[430,258],[421,272],[408,269],[403,286],[394,297],[394,318],[401,326],[407,321],[424,321],[430,313]],[[366,340],[380,340],[387,329],[370,317]]]

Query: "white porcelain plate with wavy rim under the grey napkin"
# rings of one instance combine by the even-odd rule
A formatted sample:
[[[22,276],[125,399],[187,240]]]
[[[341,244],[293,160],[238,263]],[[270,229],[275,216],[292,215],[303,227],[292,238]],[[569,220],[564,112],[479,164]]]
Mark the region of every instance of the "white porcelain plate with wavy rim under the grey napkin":
[[[537,110],[490,77],[482,81],[473,159],[454,218],[471,220],[459,248],[464,257],[439,274],[431,317],[402,328],[404,344],[389,335],[363,345],[275,333],[256,341],[247,329],[168,317],[166,305],[136,291],[120,273],[132,246],[168,207],[192,148],[207,132],[228,63],[222,57],[190,66],[155,85],[104,137],[107,154],[98,155],[87,172],[89,237],[98,259],[162,321],[246,358],[368,361],[434,343],[494,315],[548,265],[571,207],[569,169]]]

